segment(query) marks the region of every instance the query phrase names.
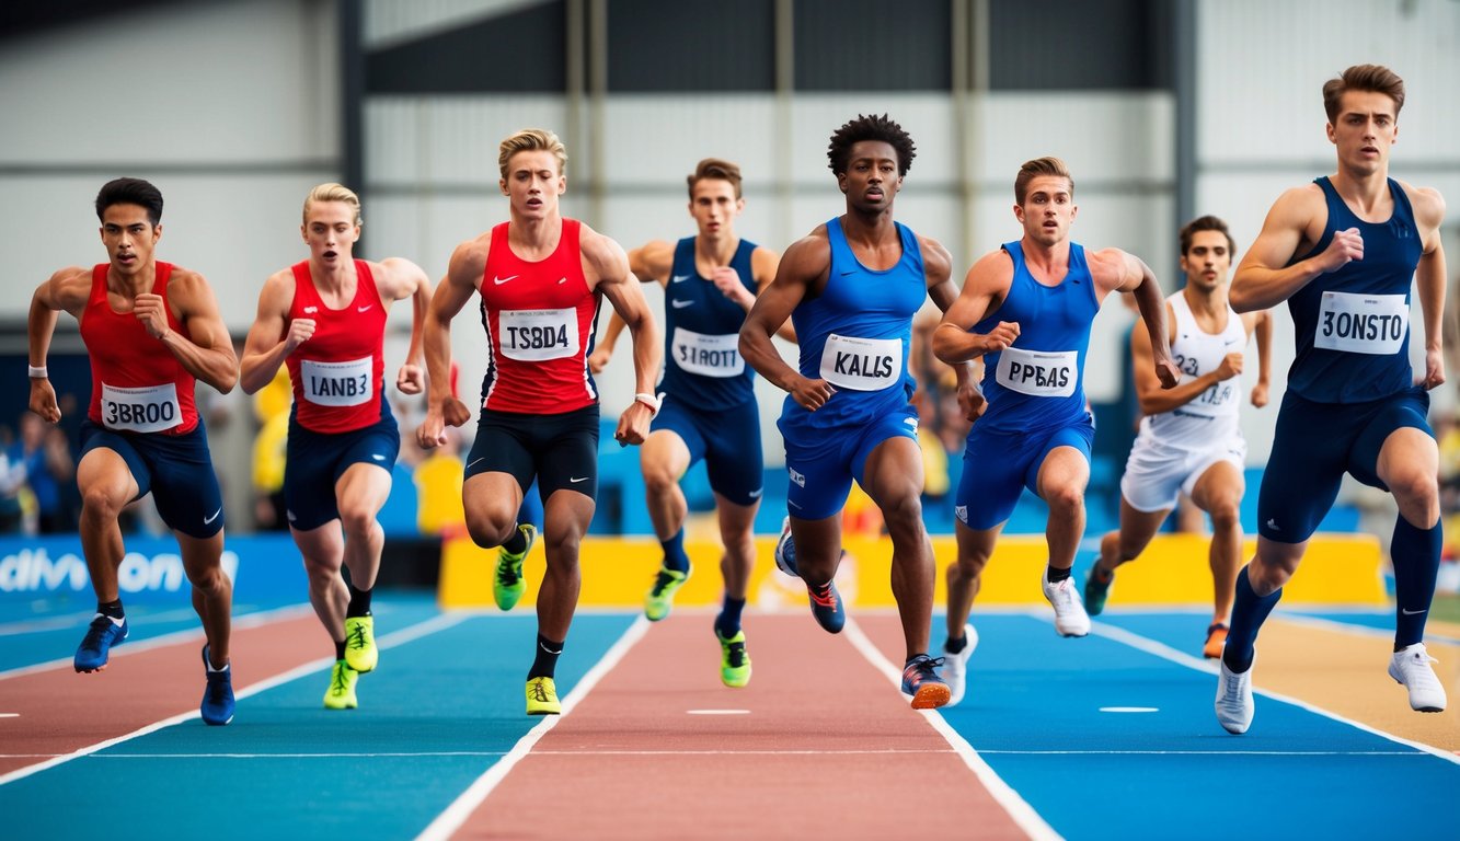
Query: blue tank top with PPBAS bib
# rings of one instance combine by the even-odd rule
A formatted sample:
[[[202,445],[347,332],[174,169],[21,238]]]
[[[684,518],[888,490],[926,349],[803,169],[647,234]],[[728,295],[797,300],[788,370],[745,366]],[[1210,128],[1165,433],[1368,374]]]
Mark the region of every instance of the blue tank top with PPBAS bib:
[[[1085,247],[1070,242],[1070,267],[1057,286],[1034,279],[1019,242],[1006,242],[1003,250],[1013,260],[1009,295],[972,331],[987,333],[1000,321],[1016,321],[1019,337],[1003,352],[984,356],[988,409],[978,426],[1009,434],[1075,423],[1088,415],[1085,353],[1099,312]]]

